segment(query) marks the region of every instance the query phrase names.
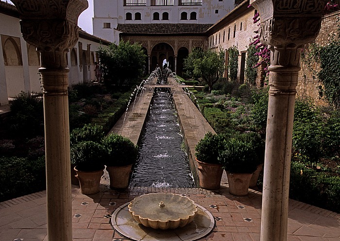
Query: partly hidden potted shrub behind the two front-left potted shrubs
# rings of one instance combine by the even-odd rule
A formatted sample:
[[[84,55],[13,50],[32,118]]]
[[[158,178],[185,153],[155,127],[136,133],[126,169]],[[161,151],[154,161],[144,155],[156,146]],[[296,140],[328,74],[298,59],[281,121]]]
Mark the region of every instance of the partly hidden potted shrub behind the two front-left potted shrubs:
[[[76,146],[82,141],[94,141],[100,143],[104,138],[105,133],[102,126],[96,124],[85,124],[82,128],[72,130],[69,136],[70,146]],[[79,185],[79,180],[76,178],[77,173],[74,170],[75,164],[71,162],[71,183]]]

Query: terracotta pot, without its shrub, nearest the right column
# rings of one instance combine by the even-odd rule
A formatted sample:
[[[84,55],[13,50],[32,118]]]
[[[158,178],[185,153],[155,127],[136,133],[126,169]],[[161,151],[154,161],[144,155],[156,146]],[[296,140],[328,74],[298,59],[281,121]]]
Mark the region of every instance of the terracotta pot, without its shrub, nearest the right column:
[[[243,174],[227,172],[229,193],[235,196],[248,195],[249,182],[252,175],[252,173]]]

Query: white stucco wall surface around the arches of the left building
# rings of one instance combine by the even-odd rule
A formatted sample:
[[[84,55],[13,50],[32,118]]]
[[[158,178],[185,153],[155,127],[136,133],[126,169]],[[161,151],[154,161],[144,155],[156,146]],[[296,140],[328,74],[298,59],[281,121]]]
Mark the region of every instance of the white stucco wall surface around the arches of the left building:
[[[0,28],[0,105],[8,104],[9,97],[15,97],[20,91],[41,91],[41,84],[38,75],[38,68],[40,66],[29,66],[28,63],[28,49],[27,43],[22,38],[20,32],[20,24],[19,19],[16,17],[12,17],[5,14],[0,14],[0,22],[6,23],[2,24]],[[3,49],[1,39],[7,39],[8,37],[19,39],[18,47],[20,48],[22,65],[19,66],[5,66],[4,57],[3,57]],[[87,45],[90,44],[90,56],[87,56],[89,61],[84,71],[86,71],[87,78],[85,82],[90,82],[95,79],[94,76],[94,65],[93,61],[90,60],[91,52],[95,54],[95,51],[98,50],[98,46],[100,43],[89,40],[92,37],[85,36],[84,38],[79,38],[78,42],[81,42],[83,45],[83,50],[87,50]],[[3,40],[5,41],[5,40]],[[76,48],[77,53],[77,65],[71,66],[70,63],[70,53],[68,52],[68,68],[69,68],[69,84],[83,83],[83,72],[80,71],[80,58],[79,57],[79,46],[78,43],[74,46]],[[17,54],[17,53],[16,53]],[[86,52],[87,54],[87,52]],[[93,72],[93,73],[92,73]]]

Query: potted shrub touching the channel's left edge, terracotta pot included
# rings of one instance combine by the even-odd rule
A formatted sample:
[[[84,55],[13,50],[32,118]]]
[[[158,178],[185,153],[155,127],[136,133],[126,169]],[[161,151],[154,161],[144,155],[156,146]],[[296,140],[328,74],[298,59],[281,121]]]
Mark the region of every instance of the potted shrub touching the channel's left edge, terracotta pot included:
[[[110,188],[123,189],[129,186],[132,166],[138,155],[137,146],[127,137],[111,133],[103,140],[106,170]]]

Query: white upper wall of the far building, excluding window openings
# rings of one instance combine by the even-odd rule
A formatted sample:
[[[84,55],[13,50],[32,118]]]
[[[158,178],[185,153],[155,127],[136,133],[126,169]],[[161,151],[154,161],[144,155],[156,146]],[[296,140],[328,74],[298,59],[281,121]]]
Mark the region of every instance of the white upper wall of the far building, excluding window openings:
[[[119,23],[216,23],[234,9],[234,0],[203,0],[202,6],[178,6],[174,0],[173,6],[123,6],[124,0],[93,0],[93,34],[110,42],[118,43],[119,39],[113,29]],[[215,11],[218,11],[216,14]],[[153,13],[158,12],[160,20],[153,20]],[[169,13],[169,20],[162,20],[162,14]],[[181,13],[187,12],[187,20],[181,20]],[[190,20],[190,13],[196,12],[197,19]],[[132,14],[132,20],[126,20],[126,13]],[[141,14],[141,20],[135,20],[135,14]],[[104,23],[110,23],[111,28],[103,28]]]

